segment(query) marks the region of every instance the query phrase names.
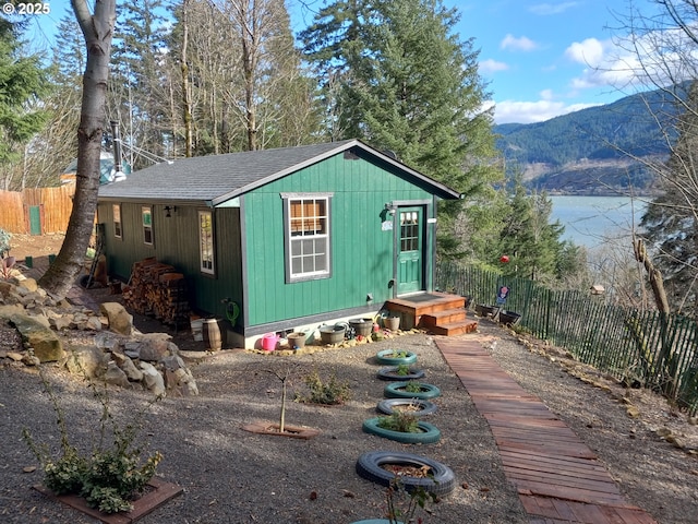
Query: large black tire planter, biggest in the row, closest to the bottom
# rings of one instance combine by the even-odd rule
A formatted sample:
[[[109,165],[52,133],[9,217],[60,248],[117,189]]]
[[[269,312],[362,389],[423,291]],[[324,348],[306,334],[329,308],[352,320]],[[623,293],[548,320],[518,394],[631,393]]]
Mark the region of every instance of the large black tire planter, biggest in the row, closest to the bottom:
[[[417,468],[423,466],[429,467],[431,477],[400,476],[400,483],[408,492],[421,487],[430,493],[444,496],[450,493],[456,488],[456,476],[450,467],[441,462],[412,453],[393,451],[371,451],[364,453],[357,461],[357,473],[360,477],[380,484],[381,486],[389,486],[390,480],[395,478],[395,474],[381,467],[387,464],[413,466]]]

